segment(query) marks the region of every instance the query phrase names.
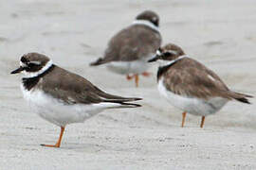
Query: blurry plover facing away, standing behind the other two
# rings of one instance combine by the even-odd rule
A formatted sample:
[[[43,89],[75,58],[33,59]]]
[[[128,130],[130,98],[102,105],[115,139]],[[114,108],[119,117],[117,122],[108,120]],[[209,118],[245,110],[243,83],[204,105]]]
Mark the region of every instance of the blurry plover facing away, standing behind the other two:
[[[158,26],[158,15],[151,10],[143,11],[131,26],[120,30],[108,42],[103,58],[90,65],[106,64],[110,71],[126,75],[128,80],[135,77],[138,86],[138,75],[150,76],[146,72],[147,60],[155,55],[161,44]]]

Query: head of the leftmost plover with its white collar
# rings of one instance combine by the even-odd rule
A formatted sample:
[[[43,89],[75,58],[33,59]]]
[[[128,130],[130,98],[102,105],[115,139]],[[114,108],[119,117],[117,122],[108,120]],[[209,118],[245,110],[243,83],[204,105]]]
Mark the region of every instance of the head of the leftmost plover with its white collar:
[[[23,73],[25,77],[39,76],[52,66],[51,59],[38,53],[27,53],[20,59],[20,67],[10,74]]]

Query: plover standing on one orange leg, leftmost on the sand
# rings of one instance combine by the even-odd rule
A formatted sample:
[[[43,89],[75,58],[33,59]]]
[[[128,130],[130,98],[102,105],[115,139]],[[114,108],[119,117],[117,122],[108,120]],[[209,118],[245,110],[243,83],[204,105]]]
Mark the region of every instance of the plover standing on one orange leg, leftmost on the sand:
[[[45,55],[28,53],[20,59],[20,67],[11,74],[23,73],[21,91],[30,107],[39,116],[61,127],[56,144],[60,147],[64,127],[82,123],[102,110],[114,108],[136,108],[129,103],[140,98],[125,98],[104,93],[82,76],[73,74],[52,63]]]

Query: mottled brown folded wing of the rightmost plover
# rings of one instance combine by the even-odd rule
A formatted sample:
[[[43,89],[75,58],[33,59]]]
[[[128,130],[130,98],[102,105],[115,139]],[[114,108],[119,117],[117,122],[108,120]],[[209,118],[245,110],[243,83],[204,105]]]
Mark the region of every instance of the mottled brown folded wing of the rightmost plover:
[[[232,98],[220,77],[194,59],[177,61],[163,76],[166,88],[176,94],[202,99]]]

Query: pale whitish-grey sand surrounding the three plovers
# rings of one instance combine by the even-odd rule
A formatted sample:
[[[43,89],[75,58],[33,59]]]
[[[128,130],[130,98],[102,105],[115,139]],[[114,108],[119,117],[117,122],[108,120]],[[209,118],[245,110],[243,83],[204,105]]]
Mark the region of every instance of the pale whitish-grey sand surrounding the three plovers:
[[[154,76],[133,81],[88,63],[138,12],[154,9],[165,42],[175,42],[231,87],[256,95],[256,1],[112,0],[0,1],[0,169],[256,169],[256,100],[230,102],[207,117],[189,115],[156,90]],[[87,77],[101,89],[140,96],[143,108],[108,110],[66,128],[62,147],[55,127],[27,107],[21,76],[9,72],[31,51]]]

